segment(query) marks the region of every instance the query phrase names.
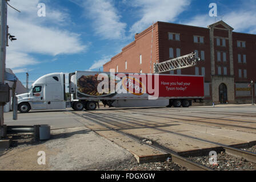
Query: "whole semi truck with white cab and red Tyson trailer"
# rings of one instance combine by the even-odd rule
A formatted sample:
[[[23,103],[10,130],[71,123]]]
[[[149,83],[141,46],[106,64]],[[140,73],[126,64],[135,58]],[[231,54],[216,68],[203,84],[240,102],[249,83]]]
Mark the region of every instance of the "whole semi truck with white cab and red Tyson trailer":
[[[28,93],[17,95],[18,110],[95,110],[110,107],[189,107],[204,96],[204,77],[190,75],[75,71],[50,73],[36,80]],[[66,99],[66,88],[71,95]]]

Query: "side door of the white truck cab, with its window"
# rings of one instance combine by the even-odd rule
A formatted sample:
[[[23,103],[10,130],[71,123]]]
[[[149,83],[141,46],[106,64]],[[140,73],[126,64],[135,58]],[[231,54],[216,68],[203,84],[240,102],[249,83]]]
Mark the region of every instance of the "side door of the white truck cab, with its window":
[[[31,95],[31,109],[46,109],[46,102],[43,98],[43,85],[35,85]]]

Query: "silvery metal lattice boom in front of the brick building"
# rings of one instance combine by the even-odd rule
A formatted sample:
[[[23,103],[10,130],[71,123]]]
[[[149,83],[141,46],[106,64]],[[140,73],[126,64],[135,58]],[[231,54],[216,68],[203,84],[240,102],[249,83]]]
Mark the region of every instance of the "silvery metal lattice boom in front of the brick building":
[[[200,61],[197,53],[190,53],[189,55],[163,61],[162,63],[155,63],[154,73],[164,73],[175,69],[194,67],[197,65],[197,61]]]

